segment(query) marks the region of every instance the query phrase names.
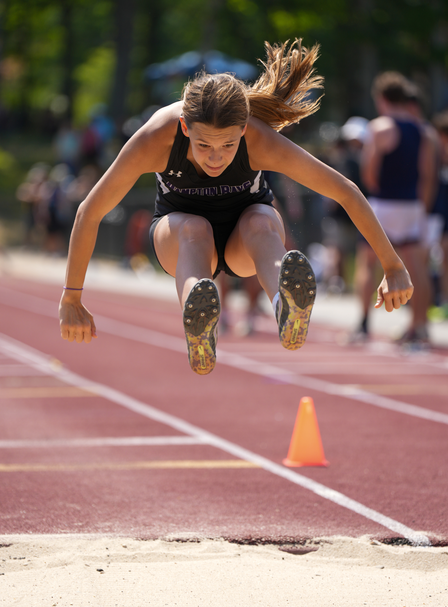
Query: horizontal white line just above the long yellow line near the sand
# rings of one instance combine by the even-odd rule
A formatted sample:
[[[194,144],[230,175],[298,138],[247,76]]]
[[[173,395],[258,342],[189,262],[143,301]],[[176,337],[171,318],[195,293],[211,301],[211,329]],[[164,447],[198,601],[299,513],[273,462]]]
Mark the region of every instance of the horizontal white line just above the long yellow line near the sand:
[[[53,447],[139,447],[158,445],[202,445],[195,436],[100,436],[98,438],[50,438],[0,440],[0,449],[52,449]]]

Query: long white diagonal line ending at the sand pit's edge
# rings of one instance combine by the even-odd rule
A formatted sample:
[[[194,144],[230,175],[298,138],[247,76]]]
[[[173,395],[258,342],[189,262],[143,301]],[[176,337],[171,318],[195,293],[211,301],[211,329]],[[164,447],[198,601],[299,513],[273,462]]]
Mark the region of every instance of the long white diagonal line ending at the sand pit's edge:
[[[429,538],[424,533],[410,529],[410,527],[407,527],[403,523],[400,523],[393,518],[386,517],[386,515],[381,514],[381,512],[376,512],[376,510],[364,506],[364,504],[361,504],[358,501],[352,500],[351,498],[347,497],[347,495],[344,495],[344,493],[339,493],[339,491],[330,489],[330,487],[317,483],[307,476],[303,476],[297,472],[294,472],[293,470],[290,470],[289,468],[276,464],[262,455],[253,453],[252,451],[244,449],[244,447],[240,447],[235,443],[231,443],[220,436],[207,432],[207,430],[194,426],[193,424],[190,424],[189,422],[184,421],[184,419],[178,418],[175,415],[170,415],[170,413],[165,413],[160,409],[156,409],[151,405],[138,401],[136,398],[132,398],[132,396],[119,392],[119,390],[115,390],[114,388],[110,388],[104,384],[99,384],[98,382],[90,381],[89,379],[83,378],[76,373],[72,373],[72,371],[69,371],[64,367],[57,368],[55,367],[54,363],[52,363],[52,359],[49,356],[45,356],[45,354],[42,352],[39,352],[38,350],[35,350],[35,348],[28,345],[22,344],[22,342],[16,341],[12,337],[0,334],[0,350],[7,353],[12,358],[15,358],[17,361],[32,365],[39,370],[45,369],[48,375],[53,375],[54,377],[65,381],[67,384],[76,386],[82,385],[84,388],[89,387],[89,390],[92,390],[92,392],[95,392],[98,394],[98,396],[102,396],[109,401],[122,405],[130,411],[139,413],[140,415],[153,419],[154,421],[158,421],[166,426],[170,426],[178,432],[194,436],[204,443],[212,445],[217,449],[221,449],[226,453],[230,453],[230,455],[236,456],[238,459],[250,461],[253,464],[256,464],[256,466],[259,466],[268,472],[272,472],[276,476],[285,478],[291,483],[304,487],[304,489],[309,489],[313,493],[316,493],[316,495],[319,495],[326,500],[332,501],[339,506],[352,510],[352,512],[356,512],[356,514],[369,518],[370,520],[375,521],[375,523],[381,524],[383,527],[403,535],[415,545],[430,545]]]

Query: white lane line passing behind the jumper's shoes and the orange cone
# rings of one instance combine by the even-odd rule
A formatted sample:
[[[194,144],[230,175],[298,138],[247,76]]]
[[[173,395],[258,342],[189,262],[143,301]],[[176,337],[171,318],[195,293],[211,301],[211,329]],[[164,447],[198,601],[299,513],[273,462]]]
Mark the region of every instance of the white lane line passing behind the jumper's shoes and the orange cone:
[[[52,318],[58,317],[58,305],[55,304],[55,302],[33,295],[18,293],[18,291],[11,291],[3,287],[0,287],[0,303],[21,308],[22,310],[32,311],[44,316],[50,316]],[[159,333],[159,331],[138,327],[99,314],[95,315],[95,320],[99,331],[110,333],[116,337],[132,339],[133,341],[142,344],[149,344],[159,348],[166,348],[167,350],[187,353],[186,341],[180,337]],[[296,375],[293,371],[289,371],[282,367],[276,367],[275,365],[256,361],[247,358],[246,356],[240,356],[236,353],[221,350],[220,348],[217,348],[216,350],[216,358],[218,359],[219,364],[229,365],[229,367],[239,369],[240,371],[247,371],[248,373],[261,375],[275,381],[280,380],[286,384],[298,385],[302,388],[308,388],[309,390],[323,392],[324,394],[344,396],[344,398],[349,398],[352,401],[364,402],[365,404],[374,405],[380,409],[388,409],[396,413],[404,413],[405,415],[426,419],[427,421],[448,424],[447,413],[426,409],[425,407],[419,407],[418,405],[410,405],[406,402],[387,398],[386,396],[372,394],[371,392],[367,392],[367,390],[361,390],[350,384],[333,384],[324,379],[310,378],[306,375]]]

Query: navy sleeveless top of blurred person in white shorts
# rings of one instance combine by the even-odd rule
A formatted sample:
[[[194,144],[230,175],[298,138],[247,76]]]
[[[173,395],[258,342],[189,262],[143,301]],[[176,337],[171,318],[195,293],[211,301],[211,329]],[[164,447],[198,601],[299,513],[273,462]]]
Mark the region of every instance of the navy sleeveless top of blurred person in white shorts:
[[[411,121],[395,120],[395,124],[400,131],[400,143],[393,152],[383,158],[377,197],[389,200],[416,200],[420,129]]]

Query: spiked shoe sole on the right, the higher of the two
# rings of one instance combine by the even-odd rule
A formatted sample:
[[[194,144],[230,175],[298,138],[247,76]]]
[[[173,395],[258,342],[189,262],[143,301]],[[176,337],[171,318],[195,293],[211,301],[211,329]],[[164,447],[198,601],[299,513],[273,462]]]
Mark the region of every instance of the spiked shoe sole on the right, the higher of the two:
[[[316,299],[316,279],[309,261],[300,251],[283,257],[278,275],[276,319],[280,343],[298,350],[305,343],[311,310]]]

